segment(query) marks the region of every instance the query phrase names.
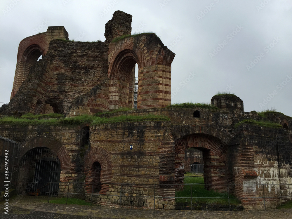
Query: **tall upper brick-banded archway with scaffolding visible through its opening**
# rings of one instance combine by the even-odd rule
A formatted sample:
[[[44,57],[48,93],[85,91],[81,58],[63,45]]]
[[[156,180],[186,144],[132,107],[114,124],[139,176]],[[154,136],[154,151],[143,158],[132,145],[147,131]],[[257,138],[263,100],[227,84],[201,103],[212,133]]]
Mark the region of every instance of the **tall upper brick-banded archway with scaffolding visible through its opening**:
[[[137,109],[170,104],[171,62],[175,54],[161,45],[155,34],[127,37],[109,44],[110,109],[133,106],[136,63],[139,67]]]

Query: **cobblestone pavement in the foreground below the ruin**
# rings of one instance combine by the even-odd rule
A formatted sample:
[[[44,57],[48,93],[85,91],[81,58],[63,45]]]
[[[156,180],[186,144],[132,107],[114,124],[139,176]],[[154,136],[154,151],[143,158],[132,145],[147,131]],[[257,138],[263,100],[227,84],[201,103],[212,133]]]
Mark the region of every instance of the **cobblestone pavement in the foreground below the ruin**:
[[[3,206],[3,205],[2,205]],[[109,208],[100,206],[82,206],[45,203],[39,200],[22,199],[11,203],[9,215],[0,209],[0,218],[80,218],[80,219],[152,219],[152,218],[210,218],[210,219],[285,219],[292,218],[292,209],[253,210],[253,211],[178,211],[178,210],[153,210],[134,208]]]

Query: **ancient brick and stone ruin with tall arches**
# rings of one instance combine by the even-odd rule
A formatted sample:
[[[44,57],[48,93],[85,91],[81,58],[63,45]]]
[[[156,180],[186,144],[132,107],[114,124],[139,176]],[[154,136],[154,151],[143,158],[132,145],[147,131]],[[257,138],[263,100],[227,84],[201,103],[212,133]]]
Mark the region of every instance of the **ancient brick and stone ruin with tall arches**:
[[[20,145],[16,152],[19,159],[10,164],[14,177],[17,175],[12,186],[22,192],[34,178],[45,178],[44,173],[36,176],[24,162],[41,153],[44,159],[35,162],[39,166],[54,164],[60,175],[50,176],[46,182],[60,182],[59,192],[67,192],[68,186],[61,184],[64,182],[97,182],[101,184],[94,188],[88,184],[82,190],[98,192],[94,201],[101,204],[152,208],[150,197],[155,192],[160,197],[155,200],[157,208],[175,208],[175,190],[183,184],[185,150],[195,148],[202,154],[207,189],[224,192],[227,185],[234,185],[230,190],[241,197],[245,208],[263,208],[263,198],[245,199],[262,197],[263,192],[273,197],[265,200],[267,207],[291,199],[292,185],[286,185],[292,184],[291,117],[275,112],[263,118],[256,112],[244,112],[243,101],[228,94],[211,99],[217,109],[166,107],[171,104],[175,54],[153,33],[130,35],[131,21],[131,15],[116,11],[105,25],[105,42],[69,41],[64,27],[48,27],[47,32],[23,39],[11,101],[0,108],[0,115],[54,112],[74,117],[133,108],[137,63],[137,109],[107,116],[151,113],[165,115],[170,121],[79,126],[1,123],[0,135]],[[40,55],[43,57],[37,61]],[[281,127],[236,126],[244,119],[271,121]],[[1,149],[5,144],[0,139]],[[69,187],[72,192],[75,189]],[[120,191],[145,198],[119,200],[111,196]]]

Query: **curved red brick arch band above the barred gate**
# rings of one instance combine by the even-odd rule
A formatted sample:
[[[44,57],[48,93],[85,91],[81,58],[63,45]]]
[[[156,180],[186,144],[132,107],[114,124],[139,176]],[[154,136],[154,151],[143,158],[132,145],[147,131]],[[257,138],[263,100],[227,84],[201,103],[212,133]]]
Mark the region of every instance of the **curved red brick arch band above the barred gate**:
[[[61,142],[51,138],[33,138],[24,142],[18,152],[19,157],[23,157],[29,150],[36,147],[47,147],[51,149],[60,160],[60,168],[63,172],[70,171],[70,156]],[[22,159],[18,160],[17,166],[20,165]]]

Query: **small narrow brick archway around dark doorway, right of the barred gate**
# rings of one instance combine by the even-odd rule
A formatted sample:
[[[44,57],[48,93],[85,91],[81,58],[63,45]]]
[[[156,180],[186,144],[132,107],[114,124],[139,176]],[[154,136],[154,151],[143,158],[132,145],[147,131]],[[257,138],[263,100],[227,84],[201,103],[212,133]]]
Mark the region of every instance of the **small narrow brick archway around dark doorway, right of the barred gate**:
[[[98,162],[101,166],[100,182],[102,183],[102,187],[100,189],[100,194],[106,194],[106,192],[109,190],[109,185],[107,183],[110,183],[112,180],[112,161],[108,152],[102,147],[94,147],[87,155],[84,170],[86,175],[85,182],[93,182],[93,175],[95,174],[93,164],[96,162]],[[88,193],[91,193],[91,188],[92,185],[88,184],[86,187]]]

